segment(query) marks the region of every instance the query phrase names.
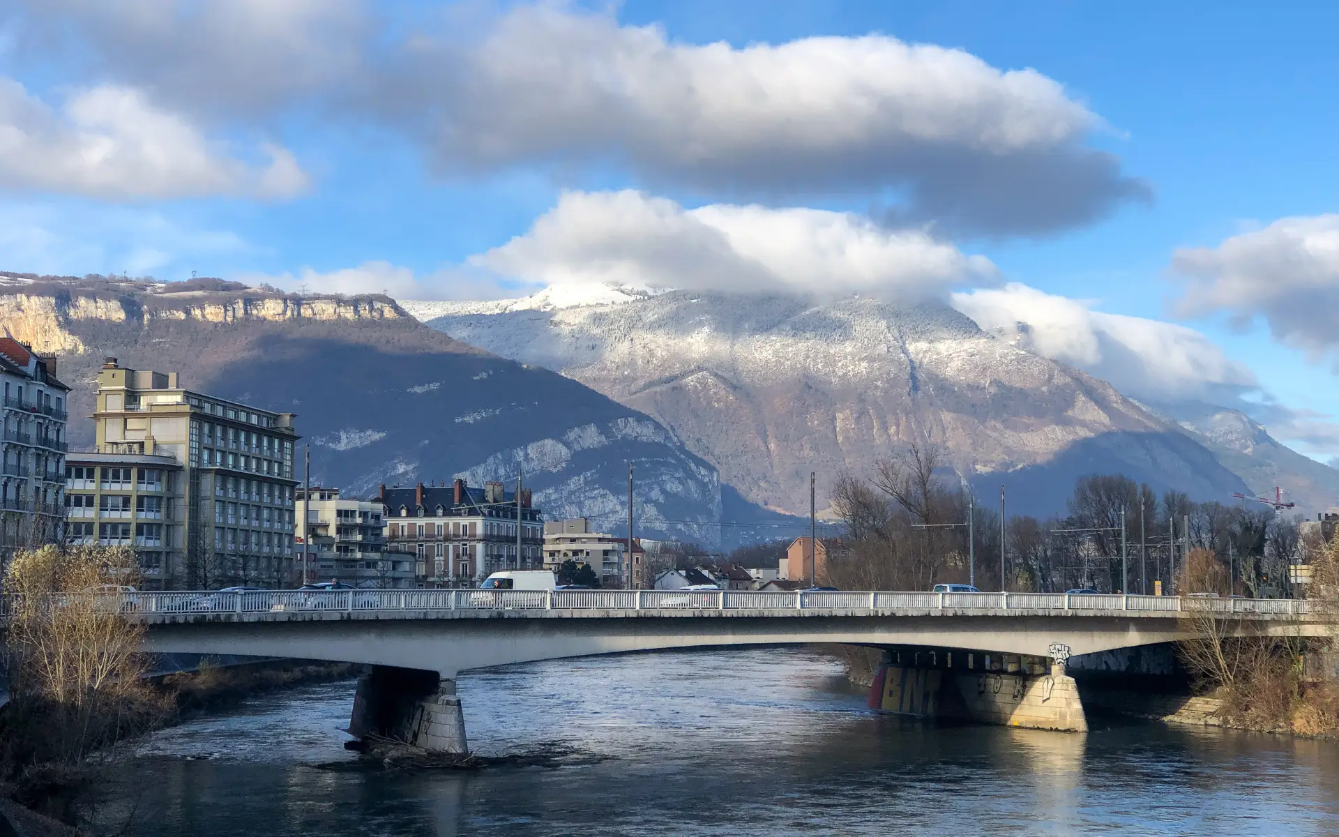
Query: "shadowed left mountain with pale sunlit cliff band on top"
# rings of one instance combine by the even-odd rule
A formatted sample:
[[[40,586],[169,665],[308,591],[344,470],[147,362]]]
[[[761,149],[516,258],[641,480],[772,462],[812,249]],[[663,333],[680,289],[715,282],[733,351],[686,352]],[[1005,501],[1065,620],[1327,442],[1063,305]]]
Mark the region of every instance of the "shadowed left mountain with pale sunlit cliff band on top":
[[[92,442],[82,416],[103,356],[116,356],[175,370],[194,390],[297,412],[316,483],[367,496],[380,483],[455,477],[510,483],[520,469],[550,520],[584,514],[623,532],[635,461],[639,533],[720,540],[716,470],[663,426],[576,380],[427,328],[387,297],[0,275],[0,325],[59,354],[59,376],[74,387],[74,445]],[[728,490],[724,502],[751,520]],[[727,529],[727,542],[734,537]]]

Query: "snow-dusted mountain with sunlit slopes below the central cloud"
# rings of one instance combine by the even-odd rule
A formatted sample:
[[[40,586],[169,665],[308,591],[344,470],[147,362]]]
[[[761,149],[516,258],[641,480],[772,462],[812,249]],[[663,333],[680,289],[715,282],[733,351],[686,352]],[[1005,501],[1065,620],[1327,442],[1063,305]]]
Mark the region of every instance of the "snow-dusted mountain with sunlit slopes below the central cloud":
[[[744,500],[778,512],[807,512],[810,471],[826,487],[917,438],[979,496],[1004,485],[1011,512],[1063,510],[1087,473],[1200,498],[1245,489],[1174,422],[945,305],[592,287],[400,304],[656,418]]]

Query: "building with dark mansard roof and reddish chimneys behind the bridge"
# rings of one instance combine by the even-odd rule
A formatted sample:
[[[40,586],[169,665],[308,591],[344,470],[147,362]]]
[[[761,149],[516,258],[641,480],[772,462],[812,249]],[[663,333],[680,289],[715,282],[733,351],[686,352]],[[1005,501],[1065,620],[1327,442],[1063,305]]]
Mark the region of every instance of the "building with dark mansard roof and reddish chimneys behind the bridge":
[[[378,500],[387,544],[414,553],[415,575],[430,587],[470,585],[489,573],[544,562],[544,518],[528,490],[517,502],[501,482],[470,487],[457,479],[450,486],[383,485]]]

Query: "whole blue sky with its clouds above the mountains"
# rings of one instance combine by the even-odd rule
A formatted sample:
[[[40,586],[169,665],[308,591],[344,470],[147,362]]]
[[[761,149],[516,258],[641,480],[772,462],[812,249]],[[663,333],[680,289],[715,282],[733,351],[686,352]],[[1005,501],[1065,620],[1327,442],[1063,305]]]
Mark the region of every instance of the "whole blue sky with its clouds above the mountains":
[[[1339,457],[1332,4],[0,4],[0,269],[947,300]]]

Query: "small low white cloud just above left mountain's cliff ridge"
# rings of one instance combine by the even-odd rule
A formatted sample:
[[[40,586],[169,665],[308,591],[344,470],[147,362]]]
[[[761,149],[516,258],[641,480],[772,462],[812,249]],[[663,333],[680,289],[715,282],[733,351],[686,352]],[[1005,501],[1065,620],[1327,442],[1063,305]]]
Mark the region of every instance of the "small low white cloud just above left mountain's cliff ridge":
[[[386,293],[402,300],[451,300],[451,299],[505,299],[518,291],[532,292],[537,288],[517,283],[501,281],[498,277],[471,269],[442,269],[418,275],[410,268],[396,267],[388,261],[364,261],[356,268],[343,268],[321,273],[303,268],[296,275],[285,273],[242,273],[237,280],[253,285],[266,283],[285,291],[311,293]]]

